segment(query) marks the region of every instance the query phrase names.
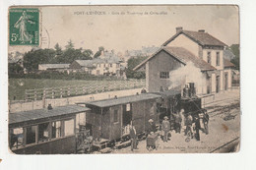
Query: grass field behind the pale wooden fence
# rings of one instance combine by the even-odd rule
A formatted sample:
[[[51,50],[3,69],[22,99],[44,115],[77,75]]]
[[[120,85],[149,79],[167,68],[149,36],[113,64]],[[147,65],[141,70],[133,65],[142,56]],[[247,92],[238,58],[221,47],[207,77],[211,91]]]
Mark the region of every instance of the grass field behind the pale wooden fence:
[[[134,82],[130,80],[129,82]],[[24,100],[25,90],[43,87],[60,87],[68,85],[92,85],[125,81],[86,81],[86,80],[48,80],[48,79],[9,79],[8,97],[10,100]]]

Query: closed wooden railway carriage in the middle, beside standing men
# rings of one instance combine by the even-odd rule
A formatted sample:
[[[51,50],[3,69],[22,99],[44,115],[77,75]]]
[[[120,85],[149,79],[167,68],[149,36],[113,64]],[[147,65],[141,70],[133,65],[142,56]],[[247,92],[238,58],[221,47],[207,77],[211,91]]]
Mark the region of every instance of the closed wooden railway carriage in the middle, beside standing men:
[[[149,119],[159,121],[157,101],[160,95],[138,94],[85,103],[92,109],[87,114],[87,124],[92,125],[94,139],[116,141],[128,135],[127,126],[133,122],[137,134],[149,128]]]

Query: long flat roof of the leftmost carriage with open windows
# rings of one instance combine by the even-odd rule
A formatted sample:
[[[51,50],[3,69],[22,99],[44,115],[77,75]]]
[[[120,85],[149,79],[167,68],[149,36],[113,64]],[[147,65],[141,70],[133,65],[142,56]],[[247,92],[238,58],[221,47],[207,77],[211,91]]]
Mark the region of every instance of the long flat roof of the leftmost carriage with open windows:
[[[9,114],[9,125],[23,123],[27,121],[37,121],[40,119],[51,118],[56,116],[65,116],[69,114],[76,114],[90,110],[87,107],[81,107],[78,105],[68,105],[53,107],[52,110],[48,109],[37,109],[24,112],[10,113]]]

